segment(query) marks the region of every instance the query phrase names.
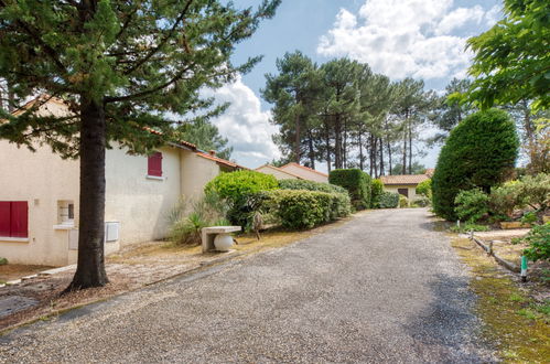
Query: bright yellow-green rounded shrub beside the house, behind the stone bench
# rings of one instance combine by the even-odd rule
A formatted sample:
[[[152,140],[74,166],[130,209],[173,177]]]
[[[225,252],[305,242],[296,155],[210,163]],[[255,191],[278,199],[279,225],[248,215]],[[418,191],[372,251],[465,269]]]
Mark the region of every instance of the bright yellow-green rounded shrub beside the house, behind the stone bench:
[[[271,174],[256,171],[236,171],[218,174],[204,188],[209,194],[216,192],[222,199],[238,202],[241,197],[260,191],[269,191],[279,188],[279,183]]]

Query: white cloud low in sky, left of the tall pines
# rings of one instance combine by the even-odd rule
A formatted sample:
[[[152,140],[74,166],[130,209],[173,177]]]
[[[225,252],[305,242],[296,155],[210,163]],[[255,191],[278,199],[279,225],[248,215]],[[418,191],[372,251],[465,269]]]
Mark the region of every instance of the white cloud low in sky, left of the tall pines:
[[[271,114],[261,110],[259,98],[240,77],[216,90],[205,90],[204,95],[214,96],[220,103],[230,103],[229,108],[212,122],[234,147],[231,159],[252,168],[280,157],[279,149],[271,140],[271,136],[278,131],[269,122]]]

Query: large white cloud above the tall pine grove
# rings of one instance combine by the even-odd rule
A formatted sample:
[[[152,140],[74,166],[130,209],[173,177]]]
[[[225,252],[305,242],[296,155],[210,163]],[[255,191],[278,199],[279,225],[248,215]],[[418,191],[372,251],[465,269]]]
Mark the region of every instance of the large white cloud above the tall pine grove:
[[[460,76],[471,54],[465,51],[467,38],[456,31],[488,24],[497,17],[494,9],[453,9],[453,0],[366,0],[357,15],[338,12],[317,53],[347,55],[393,79]]]

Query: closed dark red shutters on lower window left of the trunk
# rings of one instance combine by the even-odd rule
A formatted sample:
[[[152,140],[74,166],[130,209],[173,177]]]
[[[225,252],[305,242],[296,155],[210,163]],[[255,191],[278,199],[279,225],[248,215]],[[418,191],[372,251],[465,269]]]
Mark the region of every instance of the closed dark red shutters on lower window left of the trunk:
[[[0,201],[0,236],[29,237],[26,201]]]

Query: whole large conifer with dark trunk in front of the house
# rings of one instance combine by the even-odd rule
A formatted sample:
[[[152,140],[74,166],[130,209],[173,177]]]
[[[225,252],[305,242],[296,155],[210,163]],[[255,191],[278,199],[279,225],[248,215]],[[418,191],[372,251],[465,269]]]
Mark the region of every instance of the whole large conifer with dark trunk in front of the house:
[[[219,87],[246,72],[230,62],[280,0],[257,11],[216,0],[0,1],[0,77],[7,101],[0,138],[34,149],[48,143],[79,158],[77,269],[69,289],[104,286],[105,149],[117,141],[147,152],[172,135],[163,113],[196,114],[212,105],[202,87]],[[25,99],[47,93],[32,107]],[[72,115],[41,115],[50,97]],[[161,131],[151,133],[150,131]],[[164,140],[162,140],[163,136]]]

